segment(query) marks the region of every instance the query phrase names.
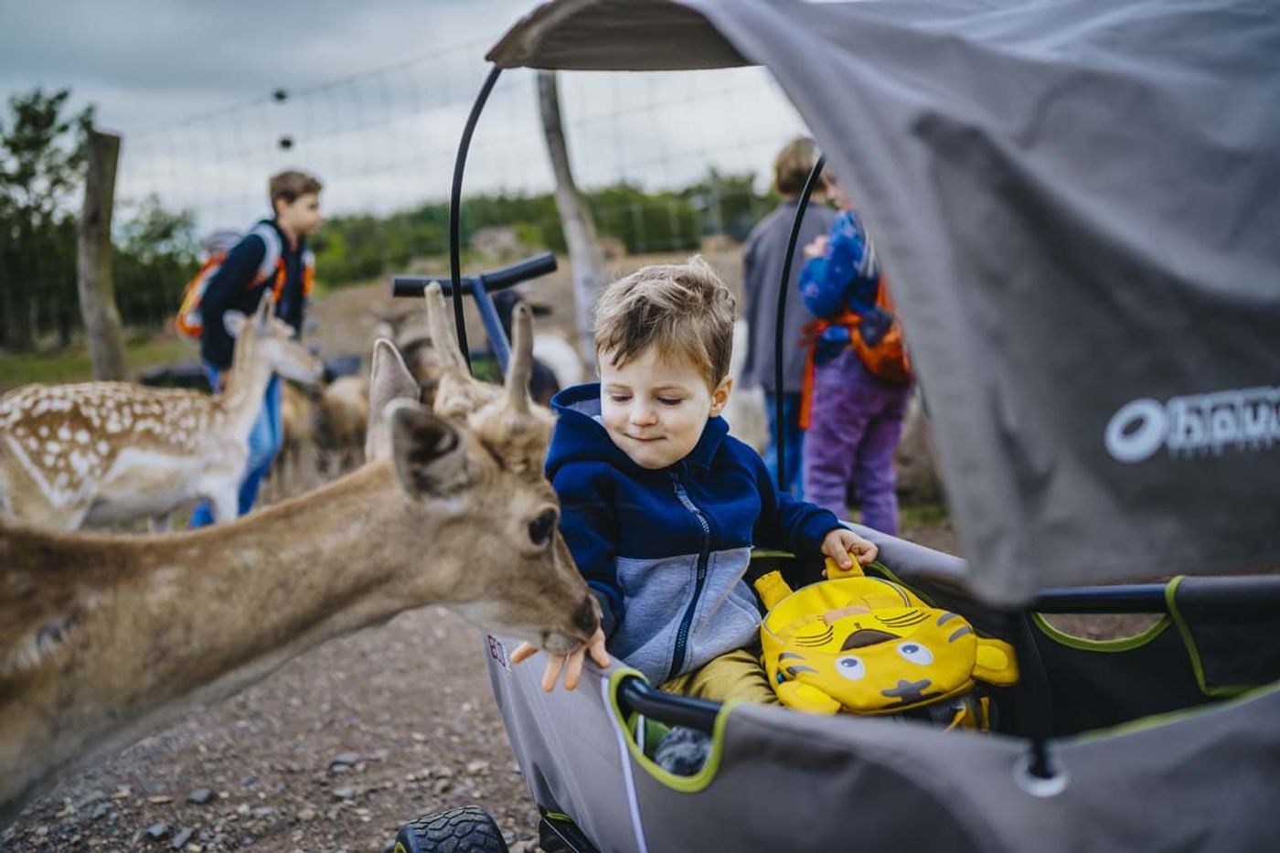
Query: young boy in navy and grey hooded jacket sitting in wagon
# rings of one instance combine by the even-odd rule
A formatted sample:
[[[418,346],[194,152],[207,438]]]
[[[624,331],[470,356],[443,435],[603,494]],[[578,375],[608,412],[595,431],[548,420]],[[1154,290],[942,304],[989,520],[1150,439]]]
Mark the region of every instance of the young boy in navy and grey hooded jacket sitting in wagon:
[[[733,295],[692,259],[609,284],[595,318],[600,383],[552,400],[547,475],[561,532],[603,611],[602,633],[553,657],[576,686],[585,653],[609,652],[672,693],[776,702],[758,654],[760,612],[742,579],[753,546],[850,566],[876,546],[827,510],[780,493],[719,418],[733,380]],[[524,660],[532,649],[520,649]]]

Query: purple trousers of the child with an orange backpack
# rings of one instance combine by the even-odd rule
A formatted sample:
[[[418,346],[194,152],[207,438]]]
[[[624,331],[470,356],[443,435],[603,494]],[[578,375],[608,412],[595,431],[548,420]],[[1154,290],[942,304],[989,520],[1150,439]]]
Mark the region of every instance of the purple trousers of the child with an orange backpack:
[[[872,375],[852,350],[818,365],[804,439],[804,498],[844,519],[852,492],[863,524],[896,534],[893,451],[910,394],[910,386]]]

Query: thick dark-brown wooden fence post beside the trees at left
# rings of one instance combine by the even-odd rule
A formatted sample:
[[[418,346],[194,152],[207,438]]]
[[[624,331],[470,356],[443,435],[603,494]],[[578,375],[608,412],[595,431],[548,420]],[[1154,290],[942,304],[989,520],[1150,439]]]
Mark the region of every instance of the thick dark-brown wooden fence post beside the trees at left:
[[[95,379],[124,379],[124,330],[111,282],[111,209],[120,137],[88,132],[88,173],[76,251],[76,284]]]

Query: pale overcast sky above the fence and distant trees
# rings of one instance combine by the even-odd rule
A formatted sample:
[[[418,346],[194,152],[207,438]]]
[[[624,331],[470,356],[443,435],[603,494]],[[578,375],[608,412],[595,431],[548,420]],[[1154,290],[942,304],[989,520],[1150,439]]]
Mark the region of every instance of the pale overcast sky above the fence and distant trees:
[[[0,0],[0,92],[69,87],[123,134],[123,206],[155,193],[202,228],[264,207],[270,172],[325,181],[330,211],[447,195],[483,60],[529,0]],[[759,69],[568,74],[579,182],[677,186],[708,165],[763,181],[801,129]],[[285,90],[284,102],[271,92]],[[280,147],[288,137],[291,147]],[[549,184],[531,72],[506,72],[477,128],[468,188]]]

